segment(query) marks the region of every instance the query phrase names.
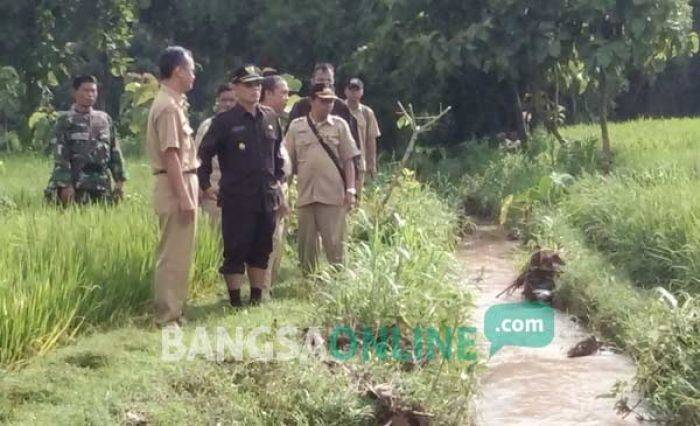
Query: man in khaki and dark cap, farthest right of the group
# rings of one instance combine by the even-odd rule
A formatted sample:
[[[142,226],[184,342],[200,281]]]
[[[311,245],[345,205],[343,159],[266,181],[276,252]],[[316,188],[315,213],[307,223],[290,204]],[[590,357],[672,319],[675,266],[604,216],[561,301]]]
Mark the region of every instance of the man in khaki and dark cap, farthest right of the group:
[[[357,132],[360,137],[360,151],[365,164],[365,172],[372,179],[377,177],[377,138],[381,136],[377,117],[372,108],[362,103],[365,94],[365,85],[359,78],[351,78],[345,86],[345,99],[347,99],[350,113],[357,120]],[[358,192],[362,190],[365,172],[358,173]]]

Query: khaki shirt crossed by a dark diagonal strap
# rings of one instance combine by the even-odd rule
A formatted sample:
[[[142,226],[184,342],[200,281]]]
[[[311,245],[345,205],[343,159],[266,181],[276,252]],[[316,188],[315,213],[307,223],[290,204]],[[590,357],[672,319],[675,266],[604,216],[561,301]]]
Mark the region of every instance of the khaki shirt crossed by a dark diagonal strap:
[[[329,115],[326,120],[314,124],[321,138],[340,160],[341,167],[347,160],[360,155],[345,120]],[[312,203],[342,206],[344,203],[343,180],[328,153],[319,144],[306,117],[299,117],[290,123],[284,146],[289,153],[292,172],[298,179],[298,207]]]

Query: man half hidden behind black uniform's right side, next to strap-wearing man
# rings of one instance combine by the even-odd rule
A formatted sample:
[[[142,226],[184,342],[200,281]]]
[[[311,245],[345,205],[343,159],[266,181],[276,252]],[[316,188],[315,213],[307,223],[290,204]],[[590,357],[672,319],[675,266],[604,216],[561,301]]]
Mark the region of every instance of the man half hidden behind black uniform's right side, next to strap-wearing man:
[[[264,71],[263,71],[264,74]],[[289,87],[285,79],[279,75],[268,75],[262,82],[262,95],[260,104],[265,105],[277,113],[281,118],[284,117],[284,108],[289,100]],[[282,128],[282,126],[280,126]],[[280,147],[280,154],[284,160],[284,175],[289,177],[292,175],[291,164],[289,163],[289,154],[284,146]],[[288,187],[286,179],[281,185],[282,193],[287,198]],[[278,211],[275,226],[275,234],[272,238],[272,254],[270,255],[269,265],[267,267],[267,286],[271,287],[272,282],[277,279],[280,264],[282,263],[282,253],[284,252],[284,235],[285,235],[285,220],[281,215],[282,211]]]

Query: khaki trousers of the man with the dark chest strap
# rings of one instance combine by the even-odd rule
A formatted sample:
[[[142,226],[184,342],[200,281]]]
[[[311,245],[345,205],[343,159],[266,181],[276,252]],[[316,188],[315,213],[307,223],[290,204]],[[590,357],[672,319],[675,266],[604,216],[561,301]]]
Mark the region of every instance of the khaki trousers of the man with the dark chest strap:
[[[313,203],[297,208],[299,221],[299,261],[302,271],[312,272],[318,264],[318,237],[333,265],[343,263],[347,208]]]

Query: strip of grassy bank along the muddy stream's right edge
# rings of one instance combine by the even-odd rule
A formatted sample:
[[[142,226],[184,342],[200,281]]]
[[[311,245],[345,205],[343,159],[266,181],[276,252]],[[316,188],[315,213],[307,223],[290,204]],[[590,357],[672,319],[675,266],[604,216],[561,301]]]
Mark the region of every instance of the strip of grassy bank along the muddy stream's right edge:
[[[674,303],[639,288],[607,252],[586,243],[565,209],[541,213],[533,239],[566,252],[557,298],[634,359],[632,388],[645,397],[645,411],[664,424],[700,424],[700,297],[680,293]]]

